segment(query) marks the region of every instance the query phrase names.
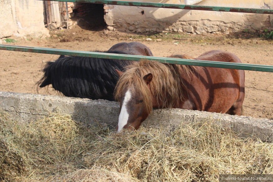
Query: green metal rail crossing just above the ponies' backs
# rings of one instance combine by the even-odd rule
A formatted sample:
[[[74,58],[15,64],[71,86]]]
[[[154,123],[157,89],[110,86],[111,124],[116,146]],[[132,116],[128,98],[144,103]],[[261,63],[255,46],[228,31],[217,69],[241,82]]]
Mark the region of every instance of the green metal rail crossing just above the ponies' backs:
[[[137,55],[126,55],[126,54],[112,54],[112,53],[104,53],[104,52],[72,51],[72,50],[65,50],[65,49],[51,49],[51,48],[43,48],[43,47],[29,47],[29,46],[3,45],[3,44],[0,44],[0,50],[34,52],[34,53],[43,53],[43,54],[57,54],[57,55],[67,55],[67,56],[96,57],[96,58],[105,58],[105,59],[120,59],[120,60],[130,60],[130,61],[140,61],[142,59],[147,59],[147,60],[154,60],[154,61],[169,63],[169,64],[183,64],[183,65],[193,65],[193,66],[203,66],[203,67],[219,67],[219,68],[240,69],[240,70],[249,70],[249,71],[273,72],[273,66],[270,66],[270,65],[244,64],[244,63],[233,63],[233,62],[217,62],[217,61],[168,58],[168,57],[137,56]]]

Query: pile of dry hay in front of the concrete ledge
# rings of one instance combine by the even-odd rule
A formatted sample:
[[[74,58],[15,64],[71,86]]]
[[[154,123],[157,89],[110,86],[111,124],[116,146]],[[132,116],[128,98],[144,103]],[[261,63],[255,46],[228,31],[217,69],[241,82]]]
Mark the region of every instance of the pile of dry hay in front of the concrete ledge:
[[[0,180],[218,181],[219,174],[272,174],[273,144],[240,139],[211,119],[115,134],[51,114],[20,125],[0,112]]]

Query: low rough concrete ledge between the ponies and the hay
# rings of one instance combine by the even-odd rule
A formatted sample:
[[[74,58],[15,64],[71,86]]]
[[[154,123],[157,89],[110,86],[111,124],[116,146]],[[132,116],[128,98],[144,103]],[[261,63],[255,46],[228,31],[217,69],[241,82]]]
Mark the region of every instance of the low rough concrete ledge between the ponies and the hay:
[[[107,100],[89,100],[63,96],[0,92],[0,108],[22,122],[36,121],[50,112],[72,115],[74,120],[115,127],[119,104]],[[143,122],[144,126],[171,131],[183,123],[212,118],[231,126],[242,137],[253,135],[262,141],[273,142],[273,120],[248,116],[226,115],[182,109],[157,109]]]

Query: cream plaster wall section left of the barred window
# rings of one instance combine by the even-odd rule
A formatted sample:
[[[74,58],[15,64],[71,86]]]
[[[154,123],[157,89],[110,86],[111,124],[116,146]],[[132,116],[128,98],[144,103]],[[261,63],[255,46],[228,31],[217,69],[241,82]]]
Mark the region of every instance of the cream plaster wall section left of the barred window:
[[[43,1],[0,0],[0,6],[0,39],[11,35],[49,37]]]

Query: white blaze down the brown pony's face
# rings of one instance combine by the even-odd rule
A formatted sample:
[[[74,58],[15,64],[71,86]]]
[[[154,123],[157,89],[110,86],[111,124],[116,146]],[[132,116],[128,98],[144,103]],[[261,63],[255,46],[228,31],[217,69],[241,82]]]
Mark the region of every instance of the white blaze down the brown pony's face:
[[[122,105],[121,105],[117,132],[120,132],[122,130],[122,128],[128,122],[129,114],[128,114],[126,106],[127,106],[128,102],[130,101],[131,96],[132,96],[132,94],[131,94],[130,90],[127,90],[127,92],[125,93],[125,97],[123,99]]]

